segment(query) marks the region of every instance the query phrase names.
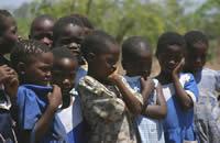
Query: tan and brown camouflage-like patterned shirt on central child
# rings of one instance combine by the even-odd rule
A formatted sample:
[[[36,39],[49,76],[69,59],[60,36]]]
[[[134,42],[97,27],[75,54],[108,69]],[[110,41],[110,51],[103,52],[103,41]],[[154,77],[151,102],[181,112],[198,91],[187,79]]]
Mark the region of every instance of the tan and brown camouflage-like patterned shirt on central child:
[[[91,129],[89,143],[136,143],[133,116],[117,90],[117,87],[103,86],[90,76],[79,81],[82,113]],[[134,95],[142,102],[141,96]]]

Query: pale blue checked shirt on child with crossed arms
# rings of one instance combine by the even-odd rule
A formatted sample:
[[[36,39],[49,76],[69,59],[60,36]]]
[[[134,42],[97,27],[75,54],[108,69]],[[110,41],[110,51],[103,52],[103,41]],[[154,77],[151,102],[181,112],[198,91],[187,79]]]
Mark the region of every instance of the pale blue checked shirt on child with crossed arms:
[[[134,89],[136,92],[141,92],[141,77],[129,77],[124,76],[127,82]],[[155,86],[157,80],[154,79]],[[156,105],[156,92],[153,92],[148,100],[148,105]],[[146,118],[144,116],[138,116],[135,118],[135,125],[140,135],[141,143],[164,143],[164,132],[161,120]]]

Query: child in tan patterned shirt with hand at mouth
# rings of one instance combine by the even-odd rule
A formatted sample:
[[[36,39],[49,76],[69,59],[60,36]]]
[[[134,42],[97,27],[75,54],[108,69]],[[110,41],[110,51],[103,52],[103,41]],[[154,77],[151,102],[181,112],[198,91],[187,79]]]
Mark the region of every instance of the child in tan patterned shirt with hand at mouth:
[[[120,48],[110,35],[96,31],[81,44],[88,62],[88,76],[78,91],[82,113],[90,125],[89,143],[135,143],[133,114],[142,109],[142,98],[114,74]]]

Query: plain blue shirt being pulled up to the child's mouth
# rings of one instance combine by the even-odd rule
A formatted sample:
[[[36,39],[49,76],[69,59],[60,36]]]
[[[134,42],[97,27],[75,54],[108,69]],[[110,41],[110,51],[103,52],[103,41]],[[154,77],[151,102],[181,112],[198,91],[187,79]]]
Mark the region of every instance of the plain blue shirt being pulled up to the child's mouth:
[[[46,110],[48,105],[47,94],[52,90],[52,87],[48,86],[22,85],[19,87],[16,101],[19,106],[19,128],[20,130],[31,131],[31,142],[34,142],[35,123]],[[55,114],[50,124],[48,133],[42,138],[40,143],[66,142],[65,129],[57,114]]]

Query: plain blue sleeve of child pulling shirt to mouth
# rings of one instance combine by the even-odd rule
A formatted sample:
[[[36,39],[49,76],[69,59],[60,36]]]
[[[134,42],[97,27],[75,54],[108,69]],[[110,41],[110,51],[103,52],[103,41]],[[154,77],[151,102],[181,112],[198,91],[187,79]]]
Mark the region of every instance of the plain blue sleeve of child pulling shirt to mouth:
[[[19,124],[22,130],[32,130],[42,112],[35,99],[35,94],[25,88],[19,88],[18,100]]]

